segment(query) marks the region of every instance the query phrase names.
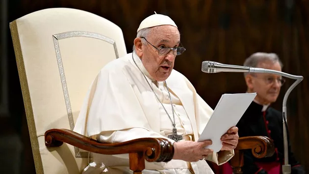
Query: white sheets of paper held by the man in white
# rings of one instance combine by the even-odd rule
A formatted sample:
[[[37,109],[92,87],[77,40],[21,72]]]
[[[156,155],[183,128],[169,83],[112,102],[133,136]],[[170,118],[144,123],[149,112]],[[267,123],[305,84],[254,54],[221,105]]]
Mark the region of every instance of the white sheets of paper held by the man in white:
[[[213,149],[214,152],[220,151],[222,135],[227,133],[231,127],[236,126],[256,95],[257,93],[223,94],[198,142],[211,140],[212,145],[205,148]]]

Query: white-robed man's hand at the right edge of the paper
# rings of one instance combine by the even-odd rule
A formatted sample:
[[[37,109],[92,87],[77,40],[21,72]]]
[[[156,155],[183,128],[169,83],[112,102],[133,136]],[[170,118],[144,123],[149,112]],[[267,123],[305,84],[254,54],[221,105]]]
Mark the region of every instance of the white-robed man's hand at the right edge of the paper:
[[[232,150],[236,148],[238,144],[238,139],[238,128],[234,126],[230,128],[228,132],[221,137],[223,145],[221,150]]]

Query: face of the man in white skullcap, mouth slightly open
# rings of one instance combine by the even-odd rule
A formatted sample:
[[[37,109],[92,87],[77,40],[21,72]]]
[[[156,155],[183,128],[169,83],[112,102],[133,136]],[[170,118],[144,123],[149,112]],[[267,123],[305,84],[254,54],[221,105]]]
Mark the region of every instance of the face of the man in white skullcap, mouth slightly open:
[[[141,58],[143,65],[148,73],[156,81],[165,81],[171,74],[176,56],[170,51],[164,56],[158,54],[151,44],[156,48],[174,48],[180,44],[180,33],[174,26],[164,25],[154,27],[146,37],[147,41],[143,39],[144,44],[140,44],[143,38],[135,38],[134,44],[136,47],[136,54]]]

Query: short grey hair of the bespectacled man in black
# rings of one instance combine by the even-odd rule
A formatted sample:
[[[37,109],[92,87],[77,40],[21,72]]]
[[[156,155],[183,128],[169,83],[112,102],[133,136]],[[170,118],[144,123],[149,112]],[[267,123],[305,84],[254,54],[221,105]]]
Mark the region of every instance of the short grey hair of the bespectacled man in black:
[[[264,62],[264,61],[270,61],[272,63],[279,62],[281,68],[283,67],[283,63],[281,62],[280,58],[275,53],[254,53],[249,58],[247,58],[244,62],[244,66],[248,67],[254,67],[257,68],[258,63]],[[244,75],[246,76],[249,74],[248,72],[245,72]]]

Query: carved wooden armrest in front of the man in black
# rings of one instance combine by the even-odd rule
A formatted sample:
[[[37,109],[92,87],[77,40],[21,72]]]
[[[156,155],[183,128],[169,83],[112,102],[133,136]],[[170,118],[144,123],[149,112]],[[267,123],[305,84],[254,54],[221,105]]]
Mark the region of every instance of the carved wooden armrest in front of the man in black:
[[[253,156],[256,158],[270,157],[275,153],[275,145],[268,137],[241,137],[234,149],[235,155],[231,159],[233,174],[242,174],[241,167],[244,164],[243,150],[246,149],[251,149]]]

